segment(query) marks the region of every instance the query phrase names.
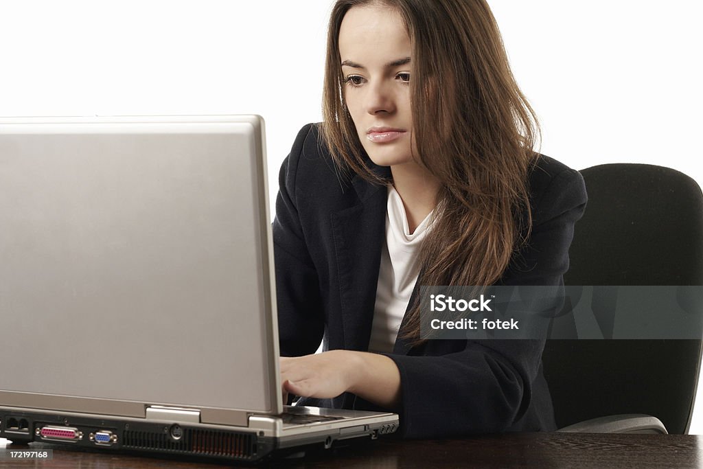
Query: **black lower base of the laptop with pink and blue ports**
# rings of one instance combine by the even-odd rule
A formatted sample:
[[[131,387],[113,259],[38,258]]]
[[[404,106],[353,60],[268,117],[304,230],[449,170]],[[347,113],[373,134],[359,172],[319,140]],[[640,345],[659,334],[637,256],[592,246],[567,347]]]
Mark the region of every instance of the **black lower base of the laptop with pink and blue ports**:
[[[375,439],[386,430],[367,425],[365,430],[353,437]],[[224,425],[127,422],[84,414],[0,408],[0,437],[11,440],[13,444],[41,442],[112,453],[252,463],[299,454],[305,449],[329,449],[344,440],[341,437],[327,437],[321,441],[311,435],[308,442],[298,439],[295,446],[281,447],[280,439],[263,433]]]

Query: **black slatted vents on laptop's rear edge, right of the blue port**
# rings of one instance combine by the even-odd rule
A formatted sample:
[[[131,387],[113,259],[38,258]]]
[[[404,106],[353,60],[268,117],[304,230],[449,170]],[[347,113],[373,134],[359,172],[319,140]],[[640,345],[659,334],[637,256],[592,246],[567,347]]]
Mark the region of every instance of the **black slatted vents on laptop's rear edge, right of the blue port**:
[[[183,437],[174,441],[161,432],[125,430],[122,446],[134,449],[186,452],[225,458],[249,458],[256,452],[254,435],[249,433],[217,432],[214,430],[183,430]]]

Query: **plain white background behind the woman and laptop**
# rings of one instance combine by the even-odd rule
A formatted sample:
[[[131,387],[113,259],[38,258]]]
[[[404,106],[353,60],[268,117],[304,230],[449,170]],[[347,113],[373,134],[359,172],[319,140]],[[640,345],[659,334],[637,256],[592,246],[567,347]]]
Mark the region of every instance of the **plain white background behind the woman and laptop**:
[[[542,153],[576,169],[663,165],[703,185],[702,2],[489,3]],[[273,197],[298,129],[321,120],[330,5],[0,0],[0,116],[260,114]]]

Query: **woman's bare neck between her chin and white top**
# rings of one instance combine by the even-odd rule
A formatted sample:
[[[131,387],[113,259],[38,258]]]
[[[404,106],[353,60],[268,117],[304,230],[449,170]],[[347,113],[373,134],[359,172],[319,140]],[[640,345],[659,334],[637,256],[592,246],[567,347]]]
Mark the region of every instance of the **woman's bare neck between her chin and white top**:
[[[392,166],[391,172],[393,186],[403,200],[410,234],[415,233],[418,225],[437,205],[441,184],[427,169],[415,162]]]

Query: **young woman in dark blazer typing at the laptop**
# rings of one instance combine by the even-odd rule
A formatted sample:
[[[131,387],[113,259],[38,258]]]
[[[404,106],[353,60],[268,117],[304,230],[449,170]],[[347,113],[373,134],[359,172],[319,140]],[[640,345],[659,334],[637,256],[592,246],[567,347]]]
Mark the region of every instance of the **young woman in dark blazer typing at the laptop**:
[[[273,222],[284,394],[405,437],[553,430],[543,341],[420,339],[419,285],[561,285],[586,204],[532,150],[489,6],[338,0],[323,101]]]

